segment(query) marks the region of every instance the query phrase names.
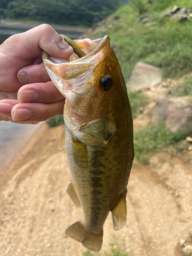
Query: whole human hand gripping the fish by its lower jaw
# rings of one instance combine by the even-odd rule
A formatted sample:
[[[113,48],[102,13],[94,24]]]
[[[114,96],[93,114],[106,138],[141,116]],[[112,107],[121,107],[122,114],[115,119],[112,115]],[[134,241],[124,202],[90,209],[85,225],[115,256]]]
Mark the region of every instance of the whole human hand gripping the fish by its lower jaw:
[[[47,24],[13,35],[0,46],[0,121],[34,124],[63,113],[65,98],[50,81],[41,49],[64,59],[73,53]]]

